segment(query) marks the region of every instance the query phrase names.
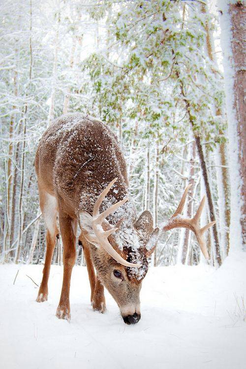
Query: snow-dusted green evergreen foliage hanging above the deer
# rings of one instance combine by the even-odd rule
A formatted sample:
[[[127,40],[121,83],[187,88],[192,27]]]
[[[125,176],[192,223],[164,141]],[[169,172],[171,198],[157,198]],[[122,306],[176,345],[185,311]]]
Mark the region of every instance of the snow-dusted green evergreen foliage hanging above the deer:
[[[221,77],[206,54],[211,15],[180,1],[102,3],[110,5],[101,18],[110,28],[110,46],[107,57],[94,55],[86,67],[105,121],[143,121],[143,138],[166,136],[163,128],[171,126],[180,129],[180,140],[191,125],[196,134],[218,142],[224,127],[221,120],[215,123],[215,105],[219,109],[224,96]],[[179,122],[187,104],[190,114]]]

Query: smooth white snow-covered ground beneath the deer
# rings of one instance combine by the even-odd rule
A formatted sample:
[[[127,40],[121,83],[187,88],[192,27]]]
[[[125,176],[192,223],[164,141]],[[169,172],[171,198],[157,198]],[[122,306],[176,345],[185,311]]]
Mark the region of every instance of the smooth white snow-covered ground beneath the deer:
[[[107,312],[92,311],[86,268],[73,270],[70,323],[55,316],[62,267],[52,266],[42,304],[27,275],[39,283],[42,266],[0,266],[1,368],[246,368],[246,254],[219,270],[150,269],[134,326],[123,323],[108,293]]]

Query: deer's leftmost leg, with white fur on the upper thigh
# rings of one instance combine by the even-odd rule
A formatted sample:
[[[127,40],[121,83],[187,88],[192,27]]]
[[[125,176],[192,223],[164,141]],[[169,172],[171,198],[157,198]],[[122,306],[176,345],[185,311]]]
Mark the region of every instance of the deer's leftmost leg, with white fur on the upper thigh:
[[[36,301],[38,303],[47,301],[48,299],[48,279],[50,275],[50,266],[56,245],[56,236],[58,236],[57,228],[57,201],[54,196],[39,190],[40,208],[47,227],[46,234],[46,255],[43,269],[43,278],[38,291]]]

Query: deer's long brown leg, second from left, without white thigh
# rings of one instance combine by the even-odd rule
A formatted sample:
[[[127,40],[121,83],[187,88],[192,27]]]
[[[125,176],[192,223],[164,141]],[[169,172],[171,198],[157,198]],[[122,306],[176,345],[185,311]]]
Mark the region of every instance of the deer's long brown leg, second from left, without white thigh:
[[[70,320],[69,291],[72,269],[76,258],[76,239],[72,228],[72,219],[68,215],[59,214],[59,221],[63,243],[63,282],[56,315],[60,319]]]

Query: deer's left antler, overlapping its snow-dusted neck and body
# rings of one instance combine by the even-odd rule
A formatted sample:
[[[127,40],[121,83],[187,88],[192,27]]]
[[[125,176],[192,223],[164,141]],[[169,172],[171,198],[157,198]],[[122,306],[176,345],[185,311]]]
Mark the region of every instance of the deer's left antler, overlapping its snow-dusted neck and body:
[[[108,241],[108,237],[117,231],[118,228],[112,228],[108,231],[104,231],[102,228],[102,222],[103,220],[113,213],[116,209],[118,209],[121,205],[123,205],[128,198],[124,198],[121,201],[118,201],[116,204],[112,205],[110,208],[106,209],[103,213],[99,214],[99,208],[100,205],[113,186],[113,184],[118,180],[118,178],[115,178],[110,184],[107,185],[107,187],[100,193],[98,196],[94,208],[93,208],[93,216],[92,216],[92,229],[94,231],[94,234],[96,238],[98,239],[99,244],[104,248],[107,253],[112,256],[118,263],[126,266],[126,267],[132,267],[132,268],[139,268],[141,267],[141,264],[132,264],[128,263],[128,261],[124,260],[123,257],[118,254],[118,252],[110,245]]]

